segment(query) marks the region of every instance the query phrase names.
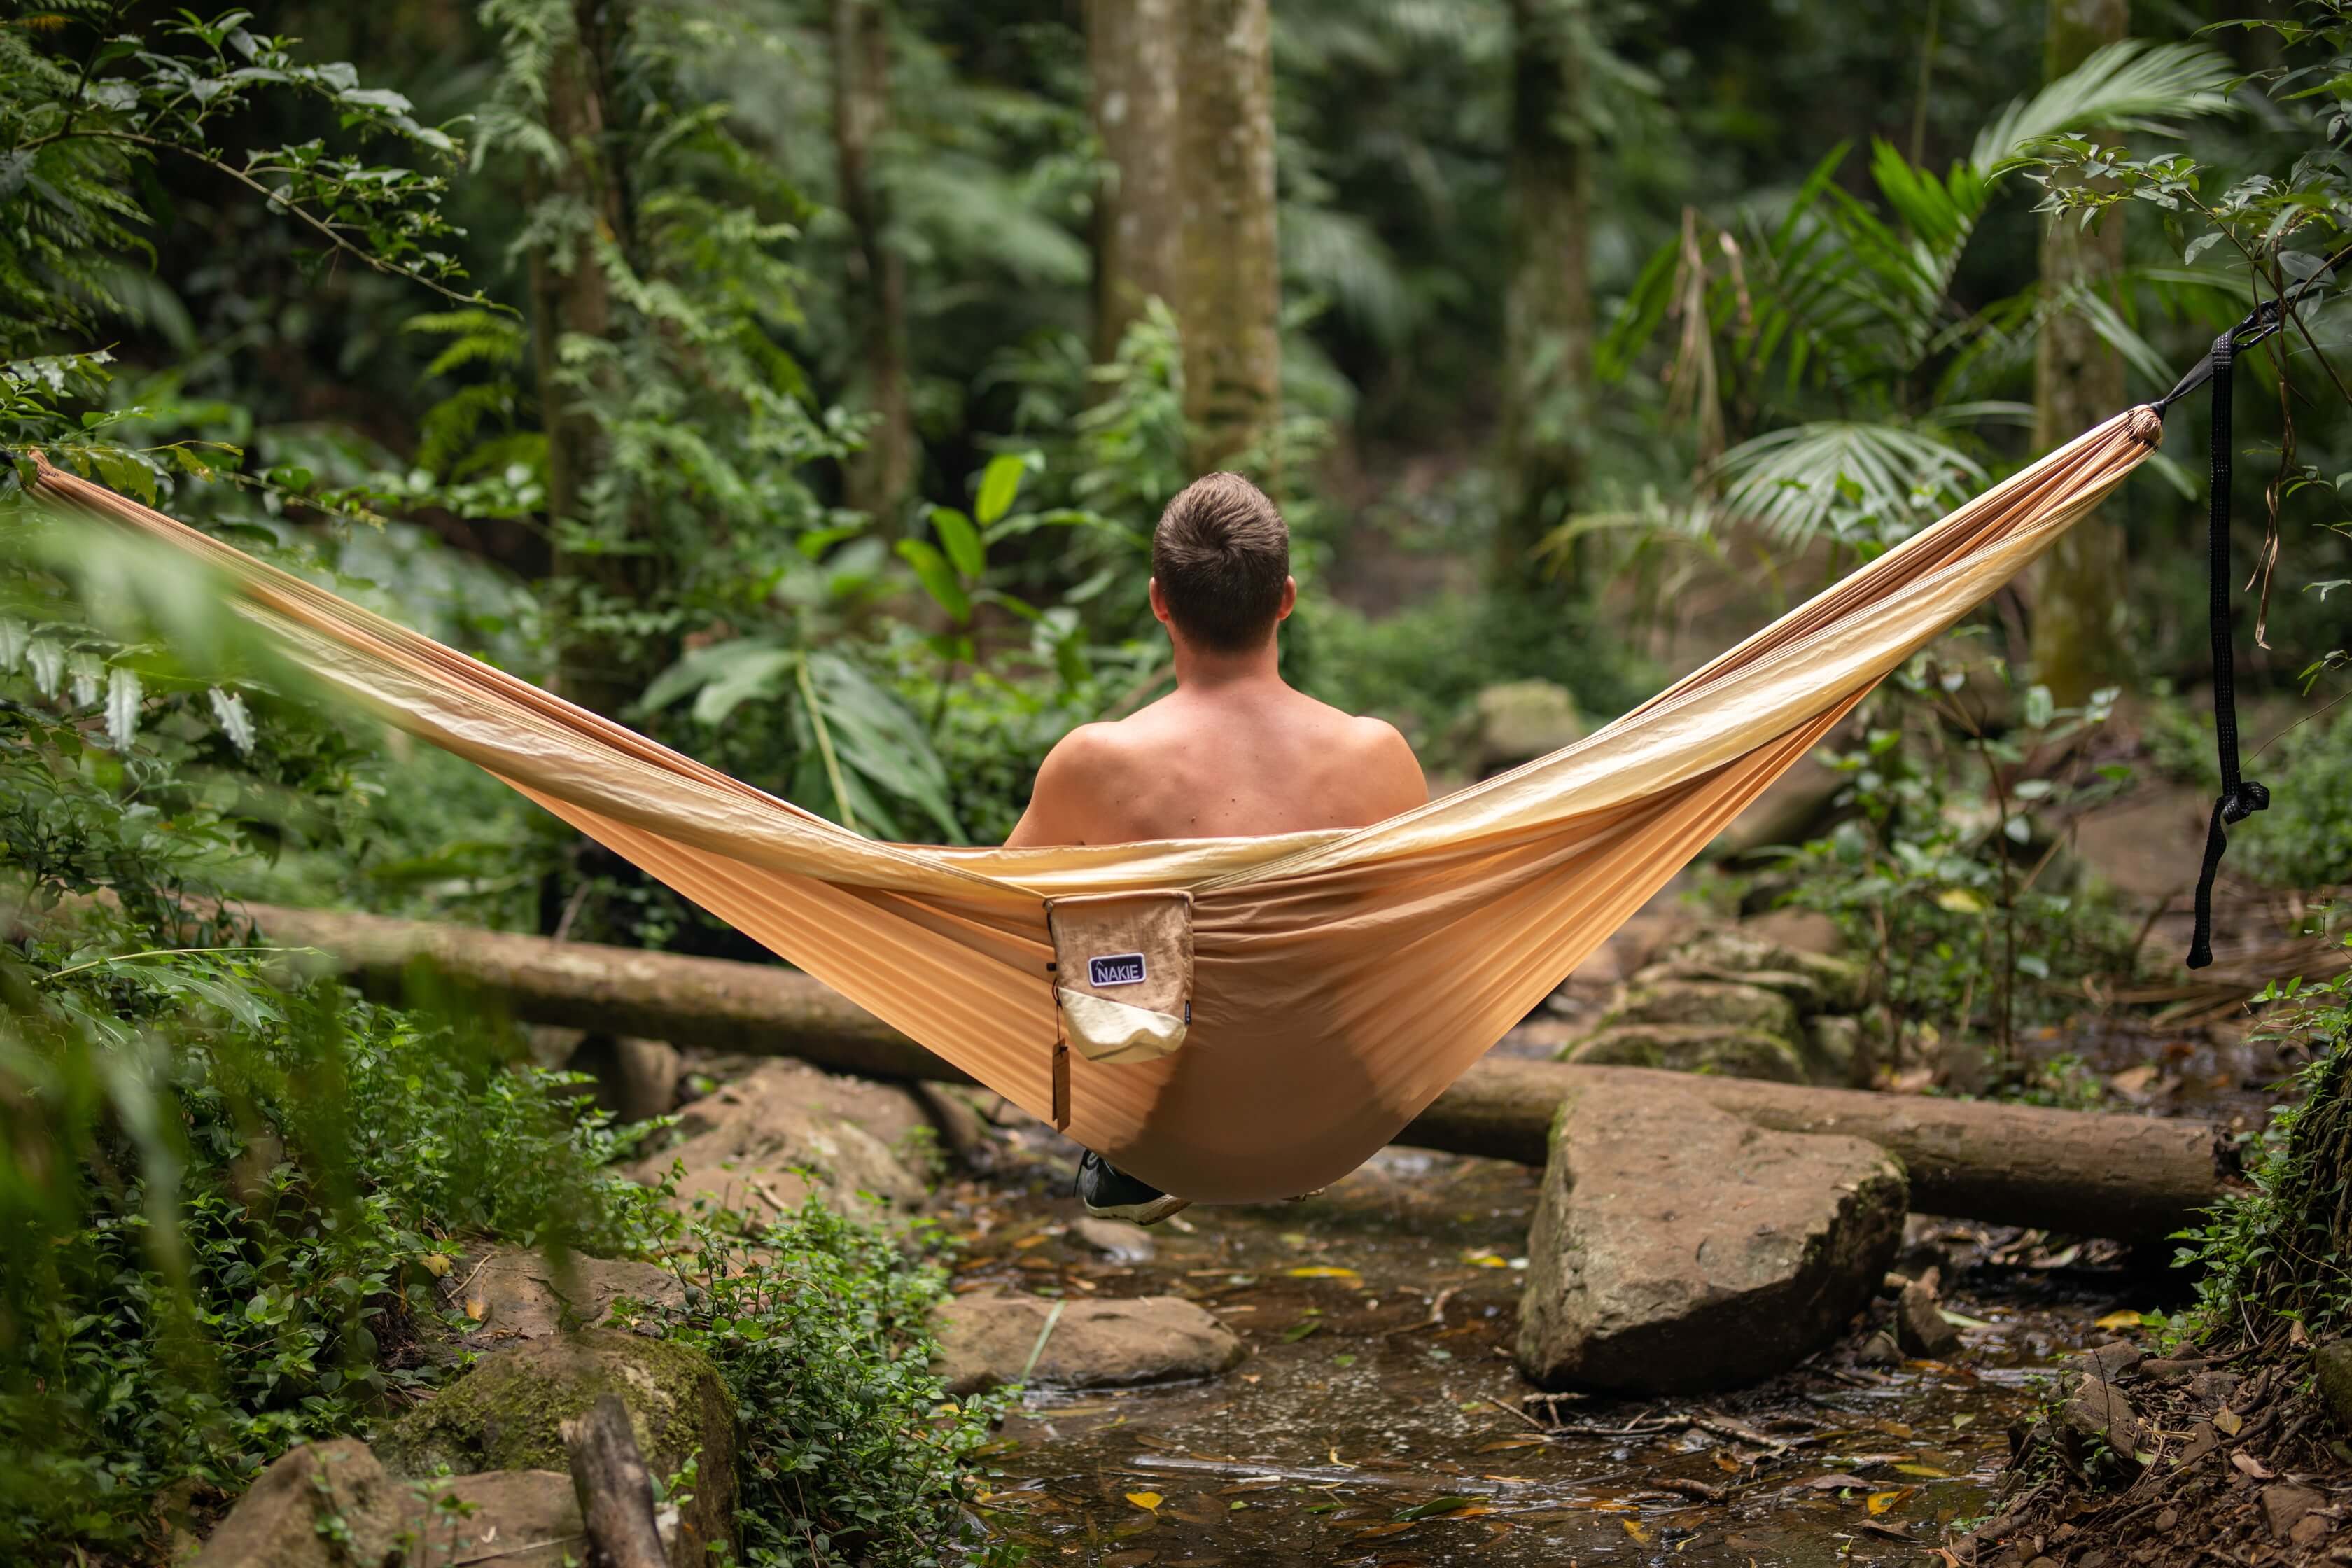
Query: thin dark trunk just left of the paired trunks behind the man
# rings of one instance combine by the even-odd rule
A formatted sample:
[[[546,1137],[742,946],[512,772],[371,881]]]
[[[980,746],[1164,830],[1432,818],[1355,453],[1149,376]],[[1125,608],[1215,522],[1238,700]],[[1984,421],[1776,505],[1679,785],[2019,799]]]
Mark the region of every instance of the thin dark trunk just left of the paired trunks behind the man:
[[[833,0],[833,146],[842,212],[856,235],[856,393],[875,414],[866,451],[849,463],[849,505],[896,520],[915,489],[915,411],[906,383],[906,259],[889,242],[889,200],[875,179],[875,143],[887,127],[887,0]]]

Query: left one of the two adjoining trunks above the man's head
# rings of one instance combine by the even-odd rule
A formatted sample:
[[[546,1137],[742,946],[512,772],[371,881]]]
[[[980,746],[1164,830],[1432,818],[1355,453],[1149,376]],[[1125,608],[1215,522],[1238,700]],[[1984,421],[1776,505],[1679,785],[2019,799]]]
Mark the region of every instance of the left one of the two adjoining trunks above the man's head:
[[[1176,139],[1176,0],[1089,0],[1094,134],[1110,165],[1094,195],[1094,357],[1110,362],[1150,299],[1183,270]]]

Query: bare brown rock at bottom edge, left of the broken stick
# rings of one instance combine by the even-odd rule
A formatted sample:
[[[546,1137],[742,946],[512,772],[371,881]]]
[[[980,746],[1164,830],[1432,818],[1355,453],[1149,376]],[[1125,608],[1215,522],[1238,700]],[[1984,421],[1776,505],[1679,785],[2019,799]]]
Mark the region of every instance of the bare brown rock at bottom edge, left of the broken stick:
[[[263,1469],[195,1568],[428,1568],[492,1556],[501,1568],[562,1568],[586,1556],[569,1474],[402,1481],[367,1443],[339,1439],[292,1448]]]

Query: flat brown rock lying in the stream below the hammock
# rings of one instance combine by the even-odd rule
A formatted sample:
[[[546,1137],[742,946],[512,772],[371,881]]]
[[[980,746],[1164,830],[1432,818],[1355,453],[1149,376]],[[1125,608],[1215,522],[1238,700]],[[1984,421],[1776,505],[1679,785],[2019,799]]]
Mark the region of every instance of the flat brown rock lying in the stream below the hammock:
[[[941,1302],[934,1371],[950,1394],[974,1394],[1023,1382],[1021,1368],[1035,1354],[1025,1382],[1103,1389],[1216,1378],[1244,1356],[1230,1328],[1174,1295],[1073,1300],[1040,1349],[1051,1312],[1054,1302],[1037,1295],[974,1293]]]

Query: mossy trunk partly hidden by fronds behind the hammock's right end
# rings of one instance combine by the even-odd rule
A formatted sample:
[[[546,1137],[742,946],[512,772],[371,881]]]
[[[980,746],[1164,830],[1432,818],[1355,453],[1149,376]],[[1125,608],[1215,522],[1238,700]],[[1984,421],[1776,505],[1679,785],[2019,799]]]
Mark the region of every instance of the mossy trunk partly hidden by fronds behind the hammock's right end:
[[[2051,0],[2044,78],[2058,80],[2131,33],[2129,0]],[[2042,287],[2105,287],[2124,266],[2124,207],[2089,230],[2074,216],[2042,228]],[[2034,449],[2074,440],[2124,407],[2124,357],[2082,310],[2044,320],[2034,348]],[[2119,670],[2124,529],[2093,512],[2077,522],[2034,574],[2034,672],[2060,703],[2079,703]]]

